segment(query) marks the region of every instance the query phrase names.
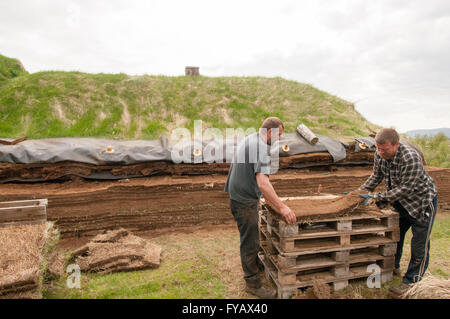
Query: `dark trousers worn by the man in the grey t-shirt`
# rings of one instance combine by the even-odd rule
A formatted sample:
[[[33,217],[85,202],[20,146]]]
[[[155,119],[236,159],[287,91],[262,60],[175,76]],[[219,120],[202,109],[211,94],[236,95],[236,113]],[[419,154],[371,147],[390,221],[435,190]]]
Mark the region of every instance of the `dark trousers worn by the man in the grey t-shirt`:
[[[258,274],[262,267],[258,259],[258,202],[241,203],[230,199],[230,209],[239,229],[241,264],[245,282],[251,288],[259,288],[261,279]]]

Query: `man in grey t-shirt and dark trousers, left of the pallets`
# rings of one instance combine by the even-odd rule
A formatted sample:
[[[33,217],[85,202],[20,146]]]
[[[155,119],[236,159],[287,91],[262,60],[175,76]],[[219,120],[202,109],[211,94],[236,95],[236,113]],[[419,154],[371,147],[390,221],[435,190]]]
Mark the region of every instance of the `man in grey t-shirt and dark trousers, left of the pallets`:
[[[237,147],[228,172],[225,191],[230,196],[230,209],[240,233],[241,264],[246,291],[261,298],[273,298],[273,289],[264,287],[259,278],[258,201],[266,202],[281,214],[286,222],[294,223],[295,214],[277,196],[269,181],[271,174],[270,145],[280,139],[283,122],[267,118],[259,132],[247,136]]]

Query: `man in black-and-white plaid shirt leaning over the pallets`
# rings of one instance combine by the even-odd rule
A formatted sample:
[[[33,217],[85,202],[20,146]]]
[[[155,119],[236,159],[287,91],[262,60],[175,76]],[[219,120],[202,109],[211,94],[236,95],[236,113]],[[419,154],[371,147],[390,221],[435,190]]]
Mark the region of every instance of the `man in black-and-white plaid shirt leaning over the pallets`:
[[[426,172],[420,154],[399,143],[394,129],[386,128],[375,137],[377,151],[373,173],[360,188],[373,192],[384,178],[386,191],[369,193],[377,205],[390,203],[400,214],[400,241],[395,255],[396,275],[400,275],[400,259],[405,234],[412,228],[411,260],[402,284],[391,287],[396,295],[403,294],[411,284],[422,279],[429,263],[430,235],[437,210],[437,190]]]

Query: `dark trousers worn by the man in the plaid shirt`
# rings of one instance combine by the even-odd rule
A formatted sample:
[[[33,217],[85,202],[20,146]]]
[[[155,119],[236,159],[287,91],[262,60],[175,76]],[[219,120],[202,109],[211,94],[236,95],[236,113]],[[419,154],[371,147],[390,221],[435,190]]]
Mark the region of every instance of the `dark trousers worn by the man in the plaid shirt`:
[[[434,218],[437,212],[437,196],[433,199],[433,204],[427,209],[430,216],[423,222],[411,217],[405,208],[399,203],[394,203],[394,210],[400,213],[400,241],[397,244],[397,253],[395,254],[395,267],[400,268],[400,259],[403,253],[403,244],[405,234],[411,228],[411,260],[408,270],[403,277],[405,284],[418,282],[422,279],[428,268],[430,261],[430,236],[433,228]]]

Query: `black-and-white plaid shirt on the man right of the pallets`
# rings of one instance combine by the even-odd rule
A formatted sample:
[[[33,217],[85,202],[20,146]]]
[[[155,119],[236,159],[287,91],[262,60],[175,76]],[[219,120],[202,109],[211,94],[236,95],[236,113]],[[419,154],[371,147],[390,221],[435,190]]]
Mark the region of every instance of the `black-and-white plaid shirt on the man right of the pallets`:
[[[372,192],[383,178],[386,191],[374,193],[375,201],[398,201],[412,217],[426,218],[424,215],[437,190],[416,150],[400,144],[393,160],[385,160],[375,152],[373,173],[361,189]]]

